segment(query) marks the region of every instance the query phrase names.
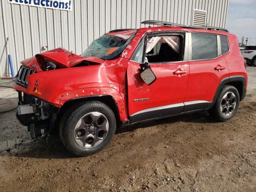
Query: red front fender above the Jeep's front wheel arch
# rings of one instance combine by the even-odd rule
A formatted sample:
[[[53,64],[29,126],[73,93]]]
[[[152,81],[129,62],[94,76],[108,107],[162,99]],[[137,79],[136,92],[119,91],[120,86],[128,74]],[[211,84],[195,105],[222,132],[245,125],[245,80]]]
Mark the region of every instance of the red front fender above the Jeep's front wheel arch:
[[[28,94],[61,107],[68,100],[94,95],[112,96],[120,120],[128,120],[124,94],[118,82],[110,80],[100,65],[65,68],[28,76]]]

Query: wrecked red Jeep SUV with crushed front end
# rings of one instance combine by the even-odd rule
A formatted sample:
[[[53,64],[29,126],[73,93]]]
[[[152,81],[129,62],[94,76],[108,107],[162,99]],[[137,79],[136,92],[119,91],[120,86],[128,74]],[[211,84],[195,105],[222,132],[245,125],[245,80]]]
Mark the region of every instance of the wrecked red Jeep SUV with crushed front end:
[[[58,128],[72,154],[88,156],[116,127],[205,110],[222,122],[236,114],[247,88],[236,35],[142,23],[157,27],[112,30],[81,55],[57,48],[21,62],[16,116],[32,138]]]

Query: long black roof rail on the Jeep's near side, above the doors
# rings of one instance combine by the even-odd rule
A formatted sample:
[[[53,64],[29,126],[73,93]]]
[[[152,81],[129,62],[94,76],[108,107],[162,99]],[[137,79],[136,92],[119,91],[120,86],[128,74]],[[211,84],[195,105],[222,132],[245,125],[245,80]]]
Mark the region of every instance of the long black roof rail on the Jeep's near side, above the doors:
[[[164,21],[154,21],[154,20],[148,20],[141,22],[142,24],[152,24],[152,25],[161,25],[161,26],[179,26],[184,28],[195,28],[195,29],[210,29],[210,30],[222,30],[225,32],[228,32],[227,29],[219,28],[219,27],[208,27],[208,26],[189,26],[189,25],[181,25],[176,23],[169,23]]]

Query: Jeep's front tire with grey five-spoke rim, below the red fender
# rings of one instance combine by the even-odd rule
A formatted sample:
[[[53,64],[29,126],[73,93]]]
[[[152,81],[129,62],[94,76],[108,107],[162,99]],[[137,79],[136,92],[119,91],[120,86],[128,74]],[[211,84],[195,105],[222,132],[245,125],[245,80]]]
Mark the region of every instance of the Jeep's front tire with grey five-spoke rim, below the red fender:
[[[60,127],[64,146],[76,156],[89,156],[103,150],[116,131],[116,118],[104,103],[90,101],[67,110]]]

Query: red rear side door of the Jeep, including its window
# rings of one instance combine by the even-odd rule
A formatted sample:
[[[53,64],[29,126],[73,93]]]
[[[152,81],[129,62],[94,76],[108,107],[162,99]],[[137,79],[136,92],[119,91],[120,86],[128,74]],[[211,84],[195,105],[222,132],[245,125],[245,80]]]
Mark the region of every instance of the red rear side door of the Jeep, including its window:
[[[226,36],[189,33],[188,38],[190,74],[184,112],[208,108],[220,81],[229,76],[228,65],[222,56],[229,51],[224,49],[224,44],[228,48]],[[221,39],[223,48],[221,48]]]

